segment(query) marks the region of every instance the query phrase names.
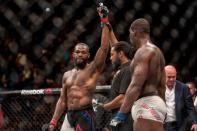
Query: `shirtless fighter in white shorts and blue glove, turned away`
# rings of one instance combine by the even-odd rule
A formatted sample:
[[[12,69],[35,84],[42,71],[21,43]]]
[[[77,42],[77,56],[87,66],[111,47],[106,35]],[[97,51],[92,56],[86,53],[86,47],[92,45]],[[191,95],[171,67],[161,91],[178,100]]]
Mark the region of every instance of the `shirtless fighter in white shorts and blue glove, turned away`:
[[[131,110],[134,131],[163,131],[166,115],[165,59],[150,40],[150,25],[146,19],[135,20],[130,26],[130,40],[137,48],[131,62],[131,83],[119,112],[111,126],[124,122]],[[163,99],[162,99],[163,98]]]

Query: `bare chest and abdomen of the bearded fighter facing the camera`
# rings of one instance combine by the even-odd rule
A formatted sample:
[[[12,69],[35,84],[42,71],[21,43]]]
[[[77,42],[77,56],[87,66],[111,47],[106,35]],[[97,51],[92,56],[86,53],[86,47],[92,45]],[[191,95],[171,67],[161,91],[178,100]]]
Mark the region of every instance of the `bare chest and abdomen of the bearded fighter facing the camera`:
[[[63,77],[63,89],[65,90],[67,108],[69,110],[80,109],[91,104],[93,91],[99,76],[98,71],[93,71],[94,63],[86,65],[83,70],[76,68],[66,72]]]

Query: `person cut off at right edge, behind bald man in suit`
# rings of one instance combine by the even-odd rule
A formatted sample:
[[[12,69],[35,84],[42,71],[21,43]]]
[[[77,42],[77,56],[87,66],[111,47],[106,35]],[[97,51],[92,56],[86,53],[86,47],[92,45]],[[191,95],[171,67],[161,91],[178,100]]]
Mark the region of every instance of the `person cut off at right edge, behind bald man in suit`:
[[[188,86],[189,90],[190,90],[190,93],[192,95],[192,99],[193,99],[193,102],[194,102],[194,107],[196,108],[197,110],[197,97],[196,97],[196,86],[193,82],[187,82],[186,85]]]

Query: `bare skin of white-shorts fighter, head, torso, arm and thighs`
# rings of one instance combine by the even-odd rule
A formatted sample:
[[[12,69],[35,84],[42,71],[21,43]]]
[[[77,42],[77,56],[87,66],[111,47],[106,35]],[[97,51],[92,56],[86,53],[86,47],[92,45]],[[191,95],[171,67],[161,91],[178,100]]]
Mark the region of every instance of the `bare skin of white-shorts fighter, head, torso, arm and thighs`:
[[[165,59],[160,49],[150,40],[148,21],[143,18],[135,20],[129,32],[137,51],[130,65],[131,82],[120,108],[123,113],[128,113],[137,99],[149,93],[154,92],[165,98]],[[134,131],[163,131],[163,123],[138,118],[134,121]]]

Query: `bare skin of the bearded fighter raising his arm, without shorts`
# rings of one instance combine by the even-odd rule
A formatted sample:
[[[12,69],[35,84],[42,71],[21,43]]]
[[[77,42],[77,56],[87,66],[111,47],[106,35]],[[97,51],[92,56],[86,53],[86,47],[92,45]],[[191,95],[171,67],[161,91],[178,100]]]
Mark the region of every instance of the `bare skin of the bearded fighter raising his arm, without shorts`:
[[[96,82],[101,74],[109,49],[109,29],[103,27],[101,47],[98,49],[94,60],[82,68],[75,67],[63,75],[61,94],[56,104],[52,120],[58,121],[64,110],[80,110],[92,105],[92,96]],[[83,43],[75,46],[74,59],[82,62],[89,57],[89,48]],[[50,125],[50,131],[54,130]]]

